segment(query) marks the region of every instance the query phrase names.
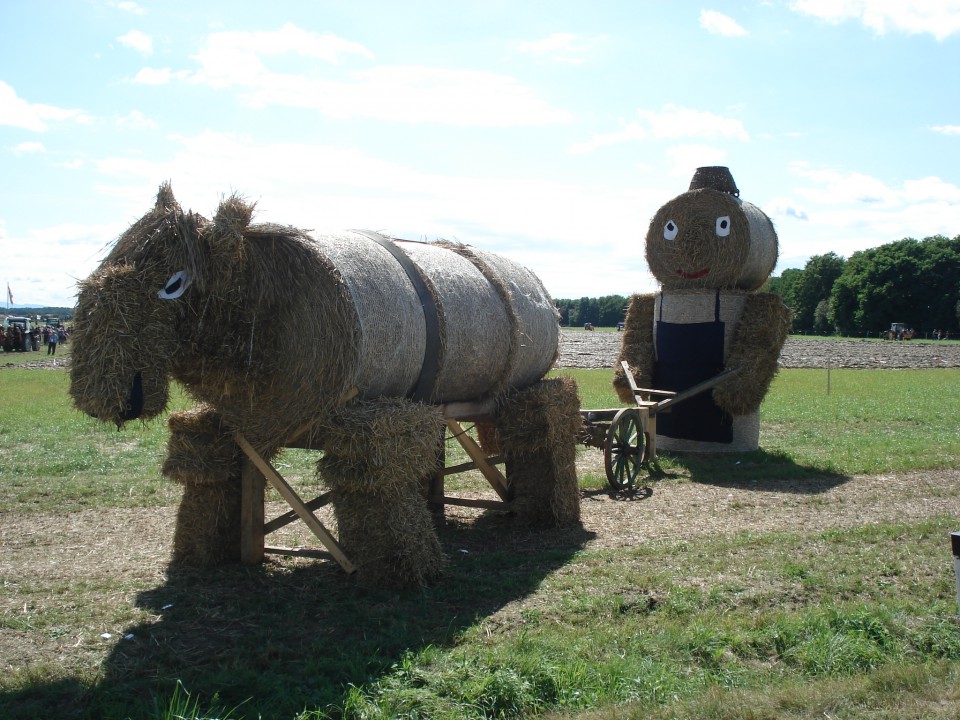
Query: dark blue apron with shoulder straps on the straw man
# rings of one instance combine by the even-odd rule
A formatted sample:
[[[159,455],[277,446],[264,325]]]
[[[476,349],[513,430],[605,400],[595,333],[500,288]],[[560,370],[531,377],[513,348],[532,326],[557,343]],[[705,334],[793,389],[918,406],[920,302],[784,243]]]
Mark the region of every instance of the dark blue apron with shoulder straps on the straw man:
[[[723,371],[723,323],[720,291],[713,322],[663,321],[663,293],[657,318],[657,357],[653,364],[654,387],[680,392]],[[733,442],[733,417],[713,402],[707,390],[677,403],[657,415],[657,435],[699,442]]]

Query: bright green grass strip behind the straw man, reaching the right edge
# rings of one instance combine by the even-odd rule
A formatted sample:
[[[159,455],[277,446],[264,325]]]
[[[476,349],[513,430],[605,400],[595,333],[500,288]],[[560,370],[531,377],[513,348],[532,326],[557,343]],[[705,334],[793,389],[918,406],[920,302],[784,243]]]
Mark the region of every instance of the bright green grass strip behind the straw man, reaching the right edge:
[[[563,370],[581,406],[618,407],[605,370]],[[960,370],[784,370],[761,407],[761,449],[669,456],[667,474],[722,482],[907,472],[960,465]],[[603,476],[585,479],[590,487]]]

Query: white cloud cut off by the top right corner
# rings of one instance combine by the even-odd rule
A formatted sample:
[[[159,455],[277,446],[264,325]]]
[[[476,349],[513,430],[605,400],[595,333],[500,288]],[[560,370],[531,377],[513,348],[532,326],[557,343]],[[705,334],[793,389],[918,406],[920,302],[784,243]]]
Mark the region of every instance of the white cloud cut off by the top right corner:
[[[944,40],[960,32],[958,0],[792,0],[790,9],[834,25],[859,20],[878,35],[898,30],[911,35],[928,33]]]

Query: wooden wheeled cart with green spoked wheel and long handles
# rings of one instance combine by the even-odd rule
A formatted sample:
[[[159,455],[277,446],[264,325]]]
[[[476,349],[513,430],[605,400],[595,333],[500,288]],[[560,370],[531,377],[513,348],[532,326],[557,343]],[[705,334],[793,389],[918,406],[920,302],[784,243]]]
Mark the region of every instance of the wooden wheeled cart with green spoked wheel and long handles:
[[[637,387],[627,362],[622,361],[620,365],[630,383],[636,407],[581,410],[583,425],[579,437],[583,445],[603,451],[607,482],[618,491],[633,489],[640,471],[657,459],[659,413],[669,412],[677,403],[713,389],[721,380],[740,371],[731,368],[686,390],[673,392]]]

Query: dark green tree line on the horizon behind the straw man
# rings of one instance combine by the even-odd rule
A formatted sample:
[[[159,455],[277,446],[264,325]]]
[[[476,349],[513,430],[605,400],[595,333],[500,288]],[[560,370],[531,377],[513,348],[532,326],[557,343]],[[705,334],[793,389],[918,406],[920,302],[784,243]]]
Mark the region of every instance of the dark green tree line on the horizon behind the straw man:
[[[920,337],[937,330],[960,337],[960,235],[904,238],[848,259],[814,255],[763,290],[778,293],[793,311],[794,333],[876,337],[902,322]],[[628,302],[623,295],[554,301],[561,325],[600,327],[623,320]]]

